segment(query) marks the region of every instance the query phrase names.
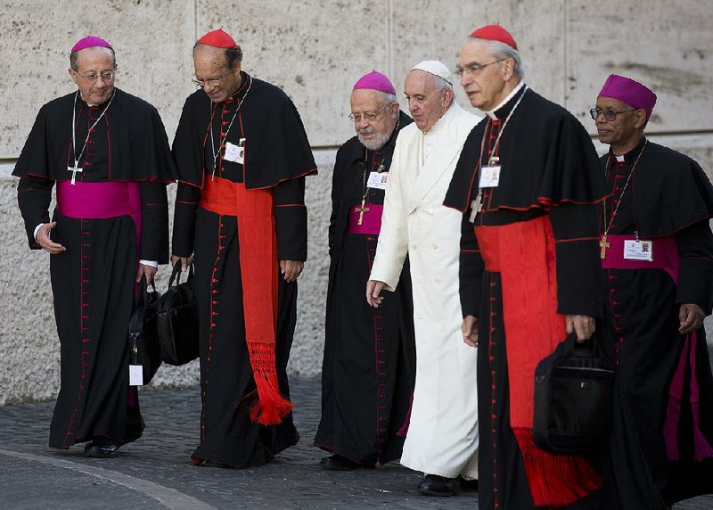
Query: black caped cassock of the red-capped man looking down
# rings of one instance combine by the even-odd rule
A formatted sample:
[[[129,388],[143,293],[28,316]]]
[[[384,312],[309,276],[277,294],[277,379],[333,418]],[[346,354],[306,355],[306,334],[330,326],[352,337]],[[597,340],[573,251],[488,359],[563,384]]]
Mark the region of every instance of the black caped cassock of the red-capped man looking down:
[[[225,160],[220,147],[225,141],[239,145],[241,138],[244,166]],[[248,189],[272,189],[275,265],[283,259],[305,260],[304,177],[316,173],[316,164],[291,100],[279,88],[244,72],[240,89],[224,103],[212,104],[202,90],[186,99],[173,152],[180,182],[172,252],[183,257],[195,254],[200,322],[201,444],[193,458],[237,467],[264,464],[295,445],[299,434],[291,414],[275,426],[250,421],[256,384],[245,338],[240,226],[235,216],[200,206],[201,185],[213,176],[214,154],[219,152],[215,177],[245,183]],[[286,367],[296,319],[297,283],[287,284],[280,276],[275,361],[285,397],[290,394]]]

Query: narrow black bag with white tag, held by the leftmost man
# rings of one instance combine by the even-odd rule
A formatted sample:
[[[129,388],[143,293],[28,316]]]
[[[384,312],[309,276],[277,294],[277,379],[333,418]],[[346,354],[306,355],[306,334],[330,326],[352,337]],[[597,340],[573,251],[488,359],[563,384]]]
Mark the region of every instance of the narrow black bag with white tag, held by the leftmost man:
[[[143,384],[151,382],[161,365],[161,350],[157,331],[156,310],[160,293],[151,284],[153,291],[148,291],[146,278],[141,278],[139,297],[134,313],[128,322],[128,346],[131,365],[141,365]]]

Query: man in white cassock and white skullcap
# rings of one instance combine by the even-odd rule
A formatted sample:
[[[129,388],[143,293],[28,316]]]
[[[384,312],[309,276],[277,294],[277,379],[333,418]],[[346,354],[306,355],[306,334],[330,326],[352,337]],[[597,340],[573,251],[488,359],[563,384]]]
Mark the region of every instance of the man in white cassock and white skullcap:
[[[450,71],[424,61],[404,86],[414,123],[398,135],[366,299],[394,291],[408,254],[414,284],[416,383],[401,464],[422,494],[452,496],[478,478],[476,350],[463,343],[458,294],[462,215],[443,206],[463,142],[480,118],[454,100]]]

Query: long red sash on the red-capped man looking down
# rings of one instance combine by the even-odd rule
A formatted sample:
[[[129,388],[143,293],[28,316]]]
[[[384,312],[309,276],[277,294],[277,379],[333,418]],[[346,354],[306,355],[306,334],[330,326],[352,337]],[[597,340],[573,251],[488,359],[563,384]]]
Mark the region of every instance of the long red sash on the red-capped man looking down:
[[[201,207],[237,217],[245,338],[258,387],[258,401],[250,409],[250,418],[258,424],[279,424],[292,404],[280,393],[275,368],[279,276],[273,192],[249,190],[243,183],[220,177],[206,178]]]

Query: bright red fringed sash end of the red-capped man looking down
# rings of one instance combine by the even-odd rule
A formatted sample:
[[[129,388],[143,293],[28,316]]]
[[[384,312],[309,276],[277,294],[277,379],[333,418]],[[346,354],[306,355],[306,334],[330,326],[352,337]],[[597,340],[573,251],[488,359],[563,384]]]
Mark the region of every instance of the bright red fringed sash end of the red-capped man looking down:
[[[292,403],[280,393],[275,370],[275,344],[248,342],[250,365],[258,387],[258,400],[250,408],[250,419],[261,425],[277,425],[292,410]]]

